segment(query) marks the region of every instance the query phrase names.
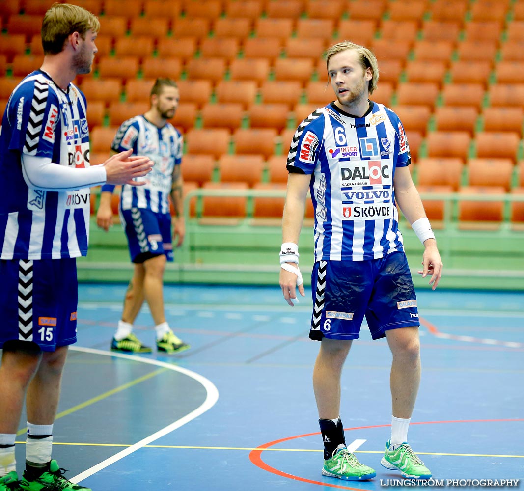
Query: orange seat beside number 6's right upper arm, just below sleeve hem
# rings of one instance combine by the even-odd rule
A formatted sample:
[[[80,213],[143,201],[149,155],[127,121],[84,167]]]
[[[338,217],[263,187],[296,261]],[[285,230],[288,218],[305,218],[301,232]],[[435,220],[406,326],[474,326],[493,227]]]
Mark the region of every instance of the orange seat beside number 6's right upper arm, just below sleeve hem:
[[[462,182],[462,158],[457,157],[425,157],[417,162],[417,185],[450,186],[457,191]]]

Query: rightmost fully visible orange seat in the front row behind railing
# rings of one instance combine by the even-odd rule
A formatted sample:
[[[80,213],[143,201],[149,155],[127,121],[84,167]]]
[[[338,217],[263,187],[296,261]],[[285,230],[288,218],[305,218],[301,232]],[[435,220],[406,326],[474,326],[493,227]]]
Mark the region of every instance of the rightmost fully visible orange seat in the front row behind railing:
[[[498,186],[462,186],[459,192],[467,194],[504,194],[504,188]],[[482,222],[499,223],[503,219],[504,203],[502,201],[459,201],[459,221],[479,222],[477,227],[483,228]],[[459,224],[462,227],[462,224]]]

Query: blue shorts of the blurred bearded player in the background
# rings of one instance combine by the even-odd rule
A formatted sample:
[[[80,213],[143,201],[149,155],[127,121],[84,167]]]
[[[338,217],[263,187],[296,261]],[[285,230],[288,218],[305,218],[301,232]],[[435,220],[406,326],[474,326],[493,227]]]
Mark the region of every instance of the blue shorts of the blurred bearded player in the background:
[[[171,242],[171,215],[155,213],[147,208],[120,210],[120,221],[124,227],[129,255],[133,263],[165,254],[173,260]]]

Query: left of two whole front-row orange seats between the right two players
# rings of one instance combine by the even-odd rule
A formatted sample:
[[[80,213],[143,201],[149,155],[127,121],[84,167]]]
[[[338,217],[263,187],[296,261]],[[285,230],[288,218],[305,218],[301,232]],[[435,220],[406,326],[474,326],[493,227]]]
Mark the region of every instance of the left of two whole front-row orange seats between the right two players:
[[[228,193],[228,191],[247,190],[245,182],[206,182],[202,189],[225,192],[223,196],[202,197],[203,217],[244,218],[246,216],[247,198],[245,196],[232,196],[231,193]]]

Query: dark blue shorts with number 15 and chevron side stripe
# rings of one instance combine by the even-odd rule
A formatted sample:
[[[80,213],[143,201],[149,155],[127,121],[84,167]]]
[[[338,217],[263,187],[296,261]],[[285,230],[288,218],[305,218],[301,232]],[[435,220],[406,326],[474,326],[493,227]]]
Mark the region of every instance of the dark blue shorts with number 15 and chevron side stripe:
[[[77,341],[77,261],[0,261],[0,348],[7,341],[32,341],[43,351]]]

